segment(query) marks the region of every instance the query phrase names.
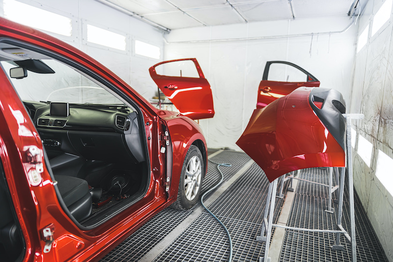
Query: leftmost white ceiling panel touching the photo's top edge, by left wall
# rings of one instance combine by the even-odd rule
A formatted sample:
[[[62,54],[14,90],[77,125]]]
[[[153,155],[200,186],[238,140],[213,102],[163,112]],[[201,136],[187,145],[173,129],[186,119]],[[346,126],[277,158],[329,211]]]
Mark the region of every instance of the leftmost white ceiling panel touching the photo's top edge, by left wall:
[[[126,10],[138,15],[177,10],[176,7],[164,0],[108,0]]]

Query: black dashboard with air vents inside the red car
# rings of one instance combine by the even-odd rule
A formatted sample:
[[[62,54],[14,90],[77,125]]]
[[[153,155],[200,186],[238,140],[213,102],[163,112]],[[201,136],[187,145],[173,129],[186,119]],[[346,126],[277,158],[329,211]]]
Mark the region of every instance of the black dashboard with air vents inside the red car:
[[[51,116],[47,102],[24,101],[51,165],[76,160],[145,160],[138,114],[127,106],[70,104],[68,116]]]

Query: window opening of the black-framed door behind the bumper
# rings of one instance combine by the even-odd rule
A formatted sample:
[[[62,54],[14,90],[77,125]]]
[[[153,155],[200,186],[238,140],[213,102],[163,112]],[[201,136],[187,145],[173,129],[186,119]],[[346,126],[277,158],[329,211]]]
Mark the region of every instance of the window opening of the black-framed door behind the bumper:
[[[307,75],[291,65],[272,63],[269,68],[267,80],[279,82],[307,82]]]

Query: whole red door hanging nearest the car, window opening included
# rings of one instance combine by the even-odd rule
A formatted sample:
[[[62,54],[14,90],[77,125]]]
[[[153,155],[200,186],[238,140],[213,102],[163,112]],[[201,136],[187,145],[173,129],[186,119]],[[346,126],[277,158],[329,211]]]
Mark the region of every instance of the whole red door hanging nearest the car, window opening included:
[[[214,116],[212,90],[196,58],[160,62],[150,67],[149,72],[181,114],[192,119]]]

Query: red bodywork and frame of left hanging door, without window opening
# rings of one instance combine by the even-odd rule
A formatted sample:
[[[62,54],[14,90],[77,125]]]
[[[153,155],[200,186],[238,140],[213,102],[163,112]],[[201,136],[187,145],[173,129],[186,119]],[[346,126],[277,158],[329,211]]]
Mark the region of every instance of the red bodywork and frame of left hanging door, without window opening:
[[[190,60],[194,63],[199,77],[159,75],[159,65]],[[150,76],[181,114],[192,119],[214,116],[213,95],[196,58],[176,59],[160,62],[149,68]],[[181,70],[180,70],[181,72]]]

